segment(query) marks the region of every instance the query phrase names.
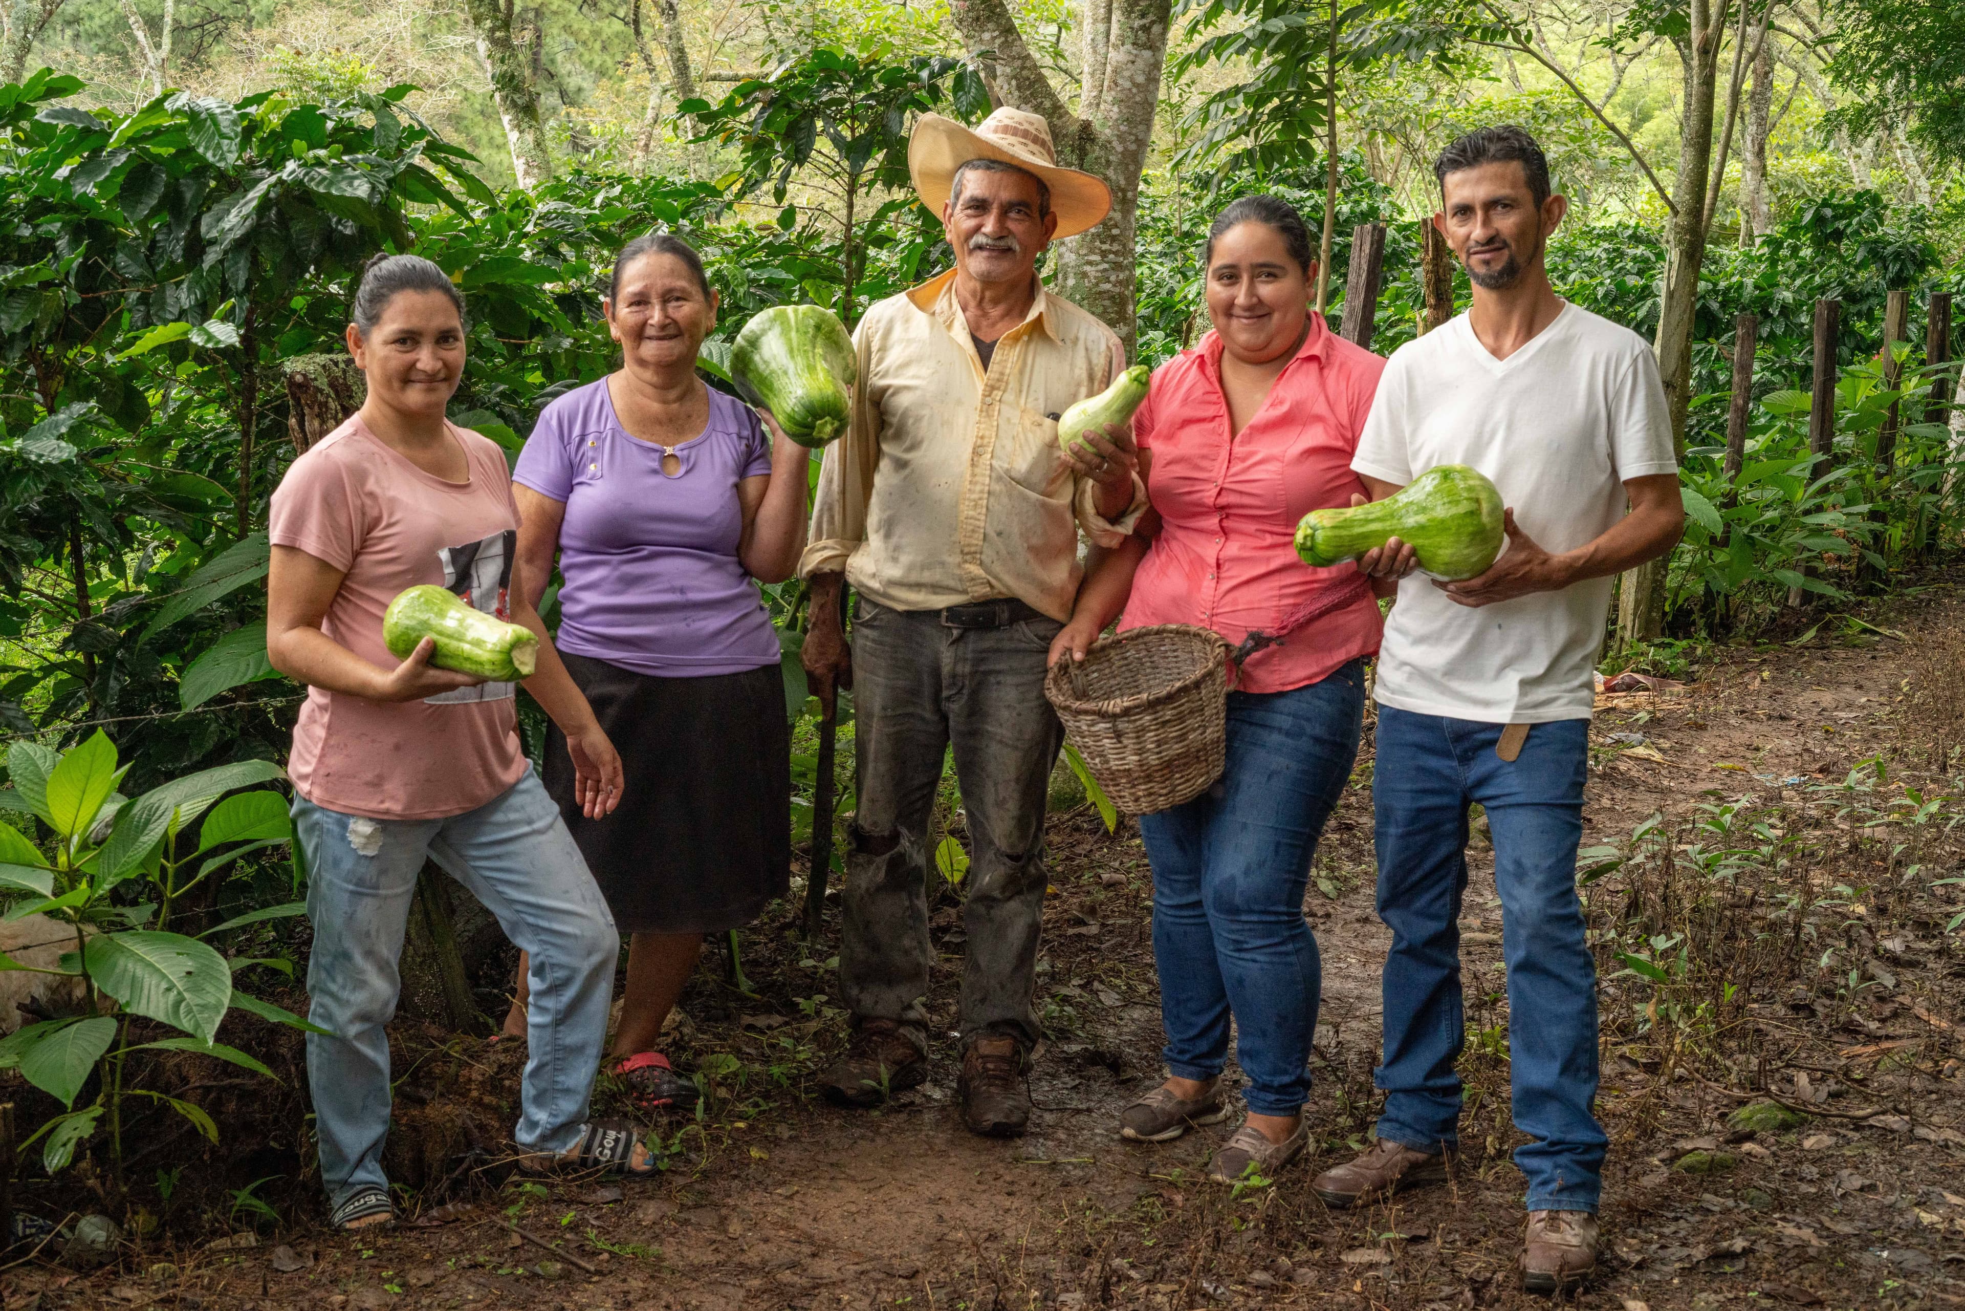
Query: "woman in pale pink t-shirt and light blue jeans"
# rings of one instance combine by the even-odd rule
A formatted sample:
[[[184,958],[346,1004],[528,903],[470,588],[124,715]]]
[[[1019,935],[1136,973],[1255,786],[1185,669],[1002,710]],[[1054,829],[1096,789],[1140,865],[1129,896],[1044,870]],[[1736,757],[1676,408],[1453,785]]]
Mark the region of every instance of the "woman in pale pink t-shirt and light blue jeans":
[[[560,808],[519,749],[509,682],[399,660],[383,609],[436,584],[540,637],[527,690],[570,743],[590,816],[621,796],[621,761],[546,629],[511,592],[519,511],[505,454],[444,407],[464,373],[464,297],[415,256],[375,259],[348,348],[362,409],[273,493],[267,655],[307,684],[293,729],[293,820],[314,924],[307,1075],[336,1228],[393,1219],[381,1169],[389,1038],[409,902],[442,865],[531,951],[531,1059],[513,1138],[533,1168],[654,1169],[639,1130],[588,1122],[619,936]]]

